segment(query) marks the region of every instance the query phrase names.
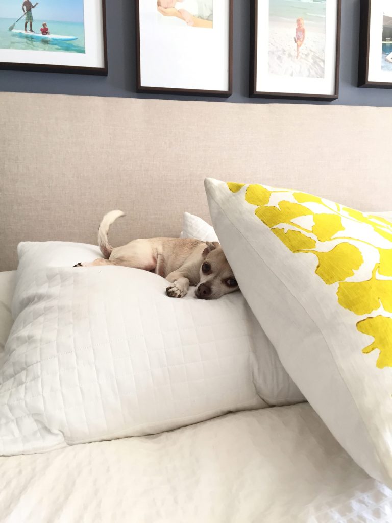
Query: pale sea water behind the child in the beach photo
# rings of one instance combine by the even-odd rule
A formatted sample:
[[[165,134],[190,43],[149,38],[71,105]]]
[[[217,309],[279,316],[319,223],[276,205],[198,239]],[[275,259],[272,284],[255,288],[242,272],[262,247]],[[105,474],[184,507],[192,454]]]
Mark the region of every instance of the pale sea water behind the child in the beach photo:
[[[293,21],[303,18],[307,24],[325,26],[326,0],[270,0],[270,17]]]

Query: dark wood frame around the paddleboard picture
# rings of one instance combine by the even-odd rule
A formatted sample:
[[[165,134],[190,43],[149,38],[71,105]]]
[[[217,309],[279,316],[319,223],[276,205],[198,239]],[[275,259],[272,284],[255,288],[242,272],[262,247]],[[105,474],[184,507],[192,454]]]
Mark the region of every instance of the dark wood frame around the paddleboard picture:
[[[30,71],[41,73],[72,73],[72,74],[94,74],[107,76],[108,74],[108,53],[106,43],[106,0],[102,3],[102,37],[103,37],[103,67],[81,67],[73,65],[51,65],[51,64],[31,64],[18,62],[1,62],[0,70],[4,71]]]

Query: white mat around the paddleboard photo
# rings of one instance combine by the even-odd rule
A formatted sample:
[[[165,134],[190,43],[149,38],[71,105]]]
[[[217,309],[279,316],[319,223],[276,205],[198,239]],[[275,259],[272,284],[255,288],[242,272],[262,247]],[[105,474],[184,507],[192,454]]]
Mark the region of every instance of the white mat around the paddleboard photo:
[[[103,13],[101,0],[84,0],[85,53],[61,51],[24,51],[0,49],[0,62],[66,65],[74,67],[105,67]]]

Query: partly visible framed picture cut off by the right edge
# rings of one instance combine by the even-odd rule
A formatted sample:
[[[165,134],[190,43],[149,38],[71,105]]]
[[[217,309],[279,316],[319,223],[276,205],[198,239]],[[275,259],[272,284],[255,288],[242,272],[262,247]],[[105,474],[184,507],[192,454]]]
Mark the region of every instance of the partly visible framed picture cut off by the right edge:
[[[392,89],[390,0],[361,0],[358,87]]]

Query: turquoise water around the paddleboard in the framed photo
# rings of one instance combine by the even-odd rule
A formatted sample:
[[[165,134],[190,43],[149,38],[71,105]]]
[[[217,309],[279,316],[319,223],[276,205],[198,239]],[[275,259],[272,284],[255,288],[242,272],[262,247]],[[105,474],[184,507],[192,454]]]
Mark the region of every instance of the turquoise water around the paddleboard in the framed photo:
[[[17,33],[8,31],[15,20],[0,18],[0,49],[20,49],[22,51],[62,51],[68,53],[85,53],[84,24],[75,22],[56,22],[54,20],[36,20],[34,18],[32,28],[36,33],[41,33],[42,22],[47,22],[49,31],[55,35],[76,36],[77,40],[70,42],[37,40],[19,36]],[[22,18],[15,25],[15,29],[25,29]],[[27,24],[30,29],[30,24]],[[1,62],[1,51],[0,51]]]

